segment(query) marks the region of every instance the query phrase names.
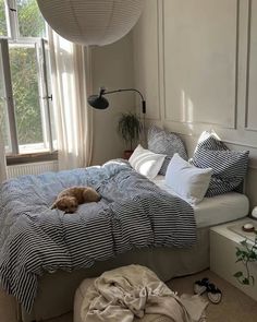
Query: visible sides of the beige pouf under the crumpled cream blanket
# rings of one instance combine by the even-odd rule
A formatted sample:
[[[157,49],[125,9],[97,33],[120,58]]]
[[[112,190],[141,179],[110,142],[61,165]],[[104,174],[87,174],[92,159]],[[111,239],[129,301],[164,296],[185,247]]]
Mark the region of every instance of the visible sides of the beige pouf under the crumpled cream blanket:
[[[74,299],[74,319],[73,322],[83,322],[81,317],[81,308],[83,299],[86,295],[87,288],[95,282],[96,278],[86,278],[82,282],[79,287],[75,293]],[[135,319],[136,321],[140,322],[172,322],[172,320],[168,317],[160,315],[160,314],[146,314],[143,319]]]

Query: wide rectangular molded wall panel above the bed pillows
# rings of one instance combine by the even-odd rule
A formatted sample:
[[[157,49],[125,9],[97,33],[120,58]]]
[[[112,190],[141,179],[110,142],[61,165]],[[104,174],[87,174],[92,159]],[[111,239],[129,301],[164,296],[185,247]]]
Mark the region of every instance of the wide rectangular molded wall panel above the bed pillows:
[[[207,3],[207,4],[206,4]],[[210,3],[211,5],[209,5],[208,3]],[[164,120],[166,121],[171,121],[171,122],[183,122],[183,123],[212,123],[215,126],[219,126],[223,129],[236,129],[236,116],[237,116],[237,47],[238,47],[238,16],[240,16],[240,1],[238,0],[227,0],[225,1],[225,7],[223,8],[223,3],[224,1],[216,1],[216,0],[209,0],[209,1],[197,1],[197,3],[195,3],[195,1],[192,1],[192,8],[188,9],[188,12],[191,9],[193,9],[194,13],[196,16],[194,16],[194,19],[192,17],[192,21],[187,22],[186,19],[180,21],[180,19],[178,19],[178,16],[180,15],[180,12],[186,11],[185,8],[188,7],[189,2],[186,2],[186,5],[183,4],[183,2],[179,1],[179,0],[162,0],[162,20],[163,20],[163,29],[162,29],[162,50],[163,50],[163,92],[164,92]],[[203,37],[205,37],[205,39],[203,39],[203,44],[205,44],[205,40],[208,39],[208,36],[211,36],[213,38],[218,38],[218,33],[220,31],[220,26],[218,26],[218,23],[216,24],[216,20],[218,17],[215,17],[215,20],[212,19],[213,14],[212,14],[212,9],[216,9],[216,13],[219,13],[219,15],[222,15],[222,17],[220,19],[221,24],[224,25],[224,29],[225,28],[230,28],[230,32],[233,32],[233,35],[231,34],[224,34],[223,39],[219,43],[219,45],[217,45],[218,47],[213,47],[213,43],[211,41],[207,41],[208,45],[211,45],[213,47],[213,50],[218,50],[217,56],[212,56],[212,53],[210,53],[208,56],[208,50],[204,50],[201,53],[201,63],[205,63],[206,69],[199,69],[199,71],[201,70],[201,74],[200,75],[208,75],[208,72],[206,73],[205,70],[209,69],[209,61],[212,61],[212,63],[216,64],[216,67],[213,68],[218,68],[220,69],[219,72],[217,72],[217,74],[215,73],[215,77],[209,77],[206,79],[206,83],[209,82],[211,85],[212,82],[212,87],[209,85],[207,85],[206,87],[203,87],[203,98],[206,99],[206,102],[201,102],[199,99],[199,88],[197,90],[197,85],[195,86],[193,83],[194,81],[189,81],[189,83],[187,82],[187,85],[189,85],[192,87],[192,90],[194,91],[194,94],[197,94],[197,102],[194,104],[195,98],[192,99],[191,94],[188,95],[186,92],[188,91],[184,91],[183,86],[181,86],[181,91],[183,90],[184,96],[182,94],[180,94],[181,98],[180,100],[184,99],[184,103],[179,102],[179,97],[174,98],[175,95],[178,95],[176,92],[172,92],[172,87],[174,87],[175,84],[175,80],[172,79],[172,76],[170,76],[172,74],[171,71],[175,71],[176,65],[171,64],[170,61],[173,59],[174,60],[174,53],[179,48],[179,51],[181,52],[181,55],[175,56],[176,62],[179,62],[178,64],[178,69],[179,72],[175,73],[175,76],[180,75],[181,72],[181,68],[183,69],[183,64],[184,62],[187,63],[186,61],[191,60],[191,56],[187,56],[187,49],[191,48],[192,53],[196,53],[198,50],[197,45],[195,45],[196,47],[194,48],[194,45],[189,45],[191,47],[188,48],[184,48],[184,44],[183,41],[181,41],[180,39],[183,38],[184,36],[193,36],[194,37],[194,32],[191,31],[191,27],[193,26],[193,28],[195,28],[196,31],[200,31],[200,29],[205,29],[200,26],[200,22],[197,21],[197,9],[195,8],[200,8],[203,5],[206,5],[205,9],[208,9],[208,12],[205,14],[207,14],[209,16],[209,21],[212,20],[212,26],[211,26],[211,32],[203,32]],[[229,19],[227,19],[227,11],[228,9],[230,9],[229,11],[233,13],[233,16],[230,15]],[[174,16],[172,16],[172,10],[174,10]],[[204,11],[204,9],[201,10]],[[189,13],[186,12],[185,13],[185,17],[188,19]],[[170,16],[171,15],[171,16]],[[171,21],[178,19],[178,21],[175,22],[176,25],[174,26]],[[205,15],[199,15],[200,20],[205,20]],[[230,21],[229,21],[230,20]],[[186,23],[185,23],[186,21]],[[228,22],[229,21],[229,22]],[[174,24],[175,24],[174,23]],[[181,25],[180,25],[181,24]],[[179,27],[176,27],[178,25],[180,25]],[[181,32],[181,34],[178,35],[178,41],[176,41],[176,34],[173,34],[173,38],[172,38],[172,33],[171,33],[171,27],[176,27],[176,29],[179,32]],[[186,29],[187,28],[187,29]],[[208,28],[206,28],[208,29]],[[185,32],[184,32],[185,31]],[[221,33],[222,34],[222,33]],[[227,36],[228,35],[228,36]],[[194,38],[195,40],[197,40],[200,44],[200,40],[197,38],[198,35],[195,35],[196,37]],[[175,40],[175,41],[171,41]],[[191,39],[191,38],[188,38]],[[187,40],[188,40],[187,39]],[[193,40],[194,40],[193,39]],[[229,44],[228,46],[225,44]],[[179,44],[179,47],[178,47]],[[173,47],[172,47],[173,46]],[[223,46],[227,46],[225,48],[223,48]],[[193,48],[193,49],[192,49]],[[184,49],[184,50],[183,50]],[[203,48],[201,48],[203,49]],[[228,49],[225,51],[225,49]],[[182,50],[182,51],[181,51]],[[185,51],[183,53],[183,51]],[[200,51],[199,51],[200,52]],[[230,64],[230,71],[228,72],[227,69],[221,68],[223,62],[223,59],[225,58],[225,52],[233,52],[230,56],[230,61],[228,61],[228,65]],[[173,55],[172,55],[173,53]],[[182,59],[183,57],[185,57],[185,61],[183,62]],[[197,59],[196,59],[197,60]],[[189,69],[192,69],[194,71],[194,74],[196,75],[196,69],[193,67],[193,61],[192,60],[192,64],[189,64]],[[227,62],[225,62],[227,63]],[[172,67],[172,68],[171,68]],[[187,69],[187,65],[185,67],[185,69]],[[224,71],[224,72],[223,72]],[[221,73],[221,74],[220,74]],[[233,74],[233,81],[231,81]],[[210,75],[212,75],[210,73]],[[189,76],[189,75],[188,75]],[[180,77],[180,76],[179,76]],[[224,81],[222,81],[222,79],[224,79]],[[183,80],[185,80],[185,77],[182,77],[181,81],[183,82]],[[199,81],[199,79],[196,79],[195,82],[197,82],[197,80]],[[206,97],[205,96],[205,91],[208,92],[208,94],[211,94],[212,88],[216,88],[216,91],[219,91],[223,86],[224,84],[229,84],[229,92],[231,93],[224,93],[223,92],[223,100],[219,102],[219,95],[217,95],[217,107],[219,107],[219,103],[220,103],[220,110],[223,109],[223,114],[225,112],[227,115],[223,117],[221,112],[216,112],[217,107],[216,104],[213,103],[213,100],[209,100],[210,97],[208,97],[208,95]],[[219,84],[222,83],[222,86]],[[201,84],[203,86],[205,82]],[[220,91],[222,92],[222,91]],[[174,94],[176,93],[176,94]],[[211,94],[212,95],[212,94]],[[228,95],[231,95],[230,97]],[[184,98],[183,98],[183,97]],[[169,99],[168,99],[169,97]],[[169,103],[168,103],[169,102]],[[206,105],[205,105],[206,104]],[[181,108],[182,105],[185,106],[185,116],[181,115]],[[212,105],[212,107],[211,107]],[[189,109],[195,109],[197,106],[197,108],[201,108],[203,114],[196,112],[194,116],[189,116],[189,114],[192,114],[192,110]],[[209,107],[208,107],[209,106]],[[208,120],[208,116],[205,115],[207,111],[205,111],[206,107],[208,108],[208,112],[211,111],[212,117],[210,120]],[[194,112],[194,111],[193,111]]]

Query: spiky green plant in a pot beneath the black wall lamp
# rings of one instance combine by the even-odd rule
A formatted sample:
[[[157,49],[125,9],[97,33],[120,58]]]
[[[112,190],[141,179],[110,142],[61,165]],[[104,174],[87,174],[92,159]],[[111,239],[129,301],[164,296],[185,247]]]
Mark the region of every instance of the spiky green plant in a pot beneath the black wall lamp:
[[[127,150],[124,151],[123,157],[128,159],[133,153],[133,147],[138,143],[143,126],[134,112],[124,112],[120,116],[118,122],[118,133],[125,141]]]

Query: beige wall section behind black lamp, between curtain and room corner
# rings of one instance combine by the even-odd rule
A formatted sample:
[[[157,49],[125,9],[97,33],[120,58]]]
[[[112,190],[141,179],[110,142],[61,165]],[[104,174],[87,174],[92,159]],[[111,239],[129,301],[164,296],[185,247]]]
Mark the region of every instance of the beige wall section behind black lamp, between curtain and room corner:
[[[128,34],[121,40],[105,47],[93,48],[93,93],[100,86],[109,91],[133,87],[133,41]],[[93,164],[102,164],[111,158],[122,157],[124,142],[117,133],[121,112],[135,110],[133,93],[118,93],[106,96],[110,106],[106,110],[94,109]]]

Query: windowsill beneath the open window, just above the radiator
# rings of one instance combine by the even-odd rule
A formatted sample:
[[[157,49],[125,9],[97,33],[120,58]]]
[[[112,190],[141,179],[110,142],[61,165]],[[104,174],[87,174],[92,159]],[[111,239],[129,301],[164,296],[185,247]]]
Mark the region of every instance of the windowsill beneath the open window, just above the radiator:
[[[58,159],[58,151],[54,151],[52,153],[42,152],[42,153],[7,155],[7,165],[14,166],[14,165],[21,165],[21,164],[40,163],[40,162],[57,160],[57,159]]]

